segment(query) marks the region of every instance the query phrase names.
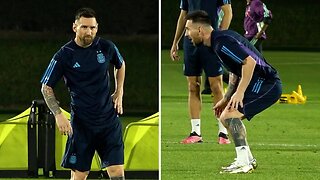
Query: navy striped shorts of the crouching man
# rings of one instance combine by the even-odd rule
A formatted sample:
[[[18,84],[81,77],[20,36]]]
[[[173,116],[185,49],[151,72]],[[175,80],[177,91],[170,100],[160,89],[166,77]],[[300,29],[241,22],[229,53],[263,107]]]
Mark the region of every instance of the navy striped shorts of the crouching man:
[[[279,79],[252,77],[244,94],[243,108],[240,107],[239,111],[250,121],[253,116],[277,102],[281,93],[282,85]]]

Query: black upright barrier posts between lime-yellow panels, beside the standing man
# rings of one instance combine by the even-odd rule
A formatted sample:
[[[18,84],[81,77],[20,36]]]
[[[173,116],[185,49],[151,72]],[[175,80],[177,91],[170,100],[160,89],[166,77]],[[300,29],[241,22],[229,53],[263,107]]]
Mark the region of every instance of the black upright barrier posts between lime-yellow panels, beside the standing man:
[[[44,100],[33,100],[28,120],[28,176],[38,177],[40,169],[40,175],[55,175],[55,119]]]

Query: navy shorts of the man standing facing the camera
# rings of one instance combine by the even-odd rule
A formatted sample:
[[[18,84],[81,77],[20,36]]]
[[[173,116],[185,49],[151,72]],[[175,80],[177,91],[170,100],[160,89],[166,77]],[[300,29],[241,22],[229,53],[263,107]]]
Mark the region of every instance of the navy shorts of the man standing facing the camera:
[[[78,119],[77,119],[78,120]],[[124,163],[122,127],[119,118],[114,126],[90,129],[72,121],[73,135],[68,137],[61,163],[64,168],[89,171],[95,151],[101,159],[101,168]]]

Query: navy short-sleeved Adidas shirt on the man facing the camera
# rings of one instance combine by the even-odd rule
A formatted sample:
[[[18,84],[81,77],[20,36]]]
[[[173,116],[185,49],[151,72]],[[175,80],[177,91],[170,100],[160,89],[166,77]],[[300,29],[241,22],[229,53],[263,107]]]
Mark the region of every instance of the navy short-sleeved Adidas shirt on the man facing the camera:
[[[41,83],[54,88],[63,77],[72,113],[86,125],[99,126],[117,115],[110,93],[109,66],[119,69],[122,63],[111,41],[96,37],[91,46],[83,48],[71,40],[53,56]]]

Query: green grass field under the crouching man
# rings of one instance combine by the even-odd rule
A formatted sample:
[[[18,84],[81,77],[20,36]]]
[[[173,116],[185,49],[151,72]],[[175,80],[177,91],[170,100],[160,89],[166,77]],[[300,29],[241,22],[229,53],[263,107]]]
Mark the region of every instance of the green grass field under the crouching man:
[[[183,53],[180,52],[180,55]],[[233,161],[234,145],[217,144],[217,122],[211,97],[202,96],[203,143],[182,145],[190,133],[187,83],[182,61],[161,59],[161,177],[167,179],[319,179],[320,174],[320,53],[264,52],[280,73],[283,93],[301,84],[304,105],[275,104],[244,121],[248,142],[258,162],[252,174],[219,174]],[[183,57],[181,57],[183,59]],[[203,86],[202,86],[203,87]]]

